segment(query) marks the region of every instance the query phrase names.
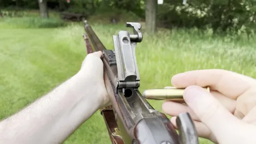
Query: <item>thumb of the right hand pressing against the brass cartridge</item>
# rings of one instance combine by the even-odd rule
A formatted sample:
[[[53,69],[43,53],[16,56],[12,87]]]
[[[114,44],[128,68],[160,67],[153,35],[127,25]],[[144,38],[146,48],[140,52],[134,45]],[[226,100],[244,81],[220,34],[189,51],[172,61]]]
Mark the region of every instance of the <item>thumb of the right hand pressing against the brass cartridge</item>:
[[[211,130],[219,143],[228,138],[234,127],[241,126],[241,121],[202,87],[187,87],[184,91],[184,100],[198,118]]]

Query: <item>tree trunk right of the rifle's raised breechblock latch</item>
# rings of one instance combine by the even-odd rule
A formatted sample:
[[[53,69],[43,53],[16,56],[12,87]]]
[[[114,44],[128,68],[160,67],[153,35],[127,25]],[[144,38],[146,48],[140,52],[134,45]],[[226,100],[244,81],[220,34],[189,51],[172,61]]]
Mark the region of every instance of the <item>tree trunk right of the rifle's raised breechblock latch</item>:
[[[157,0],[147,0],[146,2],[146,30],[150,34],[156,31]]]

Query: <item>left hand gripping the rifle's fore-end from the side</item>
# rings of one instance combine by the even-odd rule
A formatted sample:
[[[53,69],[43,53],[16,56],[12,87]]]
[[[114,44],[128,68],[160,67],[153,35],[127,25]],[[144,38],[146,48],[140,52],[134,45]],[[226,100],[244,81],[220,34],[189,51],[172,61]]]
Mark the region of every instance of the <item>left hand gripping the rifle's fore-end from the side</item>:
[[[95,91],[95,96],[100,97],[100,107],[104,107],[108,106],[110,102],[104,83],[103,62],[101,57],[101,51],[87,54],[79,73],[86,76],[86,80],[90,82],[90,85],[93,85],[93,87],[90,87],[92,88],[91,91]]]

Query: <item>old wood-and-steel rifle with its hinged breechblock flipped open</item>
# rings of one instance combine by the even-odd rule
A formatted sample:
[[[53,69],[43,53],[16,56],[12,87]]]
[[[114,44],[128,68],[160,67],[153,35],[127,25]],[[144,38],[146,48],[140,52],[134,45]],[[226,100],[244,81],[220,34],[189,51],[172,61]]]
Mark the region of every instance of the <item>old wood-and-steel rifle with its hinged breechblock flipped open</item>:
[[[188,113],[177,117],[178,133],[165,114],[155,110],[141,95],[135,47],[142,41],[140,23],[126,23],[133,34],[119,31],[113,36],[114,50],[101,43],[85,21],[87,53],[102,51],[104,81],[111,106],[100,110],[112,144],[198,144],[194,123]]]

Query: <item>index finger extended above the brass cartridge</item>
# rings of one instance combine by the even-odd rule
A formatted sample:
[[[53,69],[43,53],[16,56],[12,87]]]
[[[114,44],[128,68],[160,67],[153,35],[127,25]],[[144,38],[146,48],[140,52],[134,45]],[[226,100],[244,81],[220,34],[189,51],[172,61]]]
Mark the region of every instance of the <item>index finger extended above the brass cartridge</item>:
[[[224,69],[203,69],[180,73],[172,77],[171,83],[177,88],[186,88],[190,85],[201,87],[209,86],[231,99],[237,99],[248,90],[256,80]]]

